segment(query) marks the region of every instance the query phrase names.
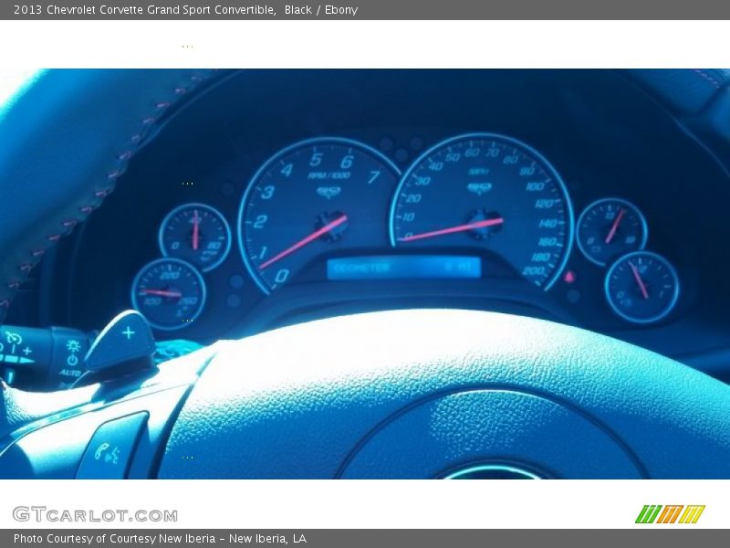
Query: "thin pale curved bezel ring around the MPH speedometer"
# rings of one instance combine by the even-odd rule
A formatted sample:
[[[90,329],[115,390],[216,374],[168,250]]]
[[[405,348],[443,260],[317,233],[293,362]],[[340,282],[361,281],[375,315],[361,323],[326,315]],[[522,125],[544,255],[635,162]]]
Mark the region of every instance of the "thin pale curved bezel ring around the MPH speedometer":
[[[428,148],[425,152],[423,152],[418,158],[416,158],[411,165],[408,167],[407,170],[401,175],[401,180],[398,182],[398,186],[396,186],[395,191],[393,192],[393,196],[391,199],[391,207],[390,207],[390,213],[388,215],[388,234],[391,238],[391,248],[398,248],[397,244],[397,238],[395,237],[395,208],[398,203],[398,197],[401,195],[401,189],[403,187],[403,184],[408,180],[408,178],[411,176],[414,169],[416,169],[418,166],[420,166],[423,161],[425,161],[429,156],[431,156],[436,151],[443,149],[445,146],[449,146],[450,144],[458,141],[464,141],[465,139],[491,139],[493,141],[501,141],[506,142],[516,148],[522,149],[524,153],[527,153],[529,155],[532,155],[533,158],[535,158],[538,162],[542,163],[543,166],[546,168],[547,173],[551,174],[553,177],[555,177],[555,181],[560,186],[563,196],[565,198],[565,205],[566,210],[568,212],[568,218],[566,219],[568,222],[568,237],[566,242],[566,247],[564,251],[563,258],[558,265],[558,267],[555,269],[555,273],[553,276],[547,280],[545,285],[541,287],[542,290],[550,290],[555,283],[560,279],[560,275],[563,273],[563,270],[565,270],[566,266],[568,265],[568,259],[570,258],[570,254],[573,251],[573,240],[575,238],[575,214],[573,212],[573,202],[570,198],[570,193],[568,193],[568,186],[565,184],[565,181],[563,181],[563,178],[558,173],[558,170],[555,168],[555,166],[550,163],[547,158],[542,154],[539,153],[535,148],[527,144],[527,142],[521,141],[517,139],[516,137],[509,137],[508,135],[503,135],[502,133],[494,133],[494,132],[472,132],[472,133],[461,133],[459,135],[454,135],[454,137],[449,137],[447,139],[443,139],[440,142],[436,142]]]

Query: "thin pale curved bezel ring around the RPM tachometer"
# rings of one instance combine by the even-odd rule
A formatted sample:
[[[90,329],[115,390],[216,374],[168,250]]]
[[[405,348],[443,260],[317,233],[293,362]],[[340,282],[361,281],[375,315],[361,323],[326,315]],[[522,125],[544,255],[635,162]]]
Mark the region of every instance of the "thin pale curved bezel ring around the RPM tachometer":
[[[251,279],[253,279],[255,281],[255,284],[258,287],[258,289],[261,290],[265,295],[270,295],[272,290],[270,288],[266,287],[266,284],[264,283],[264,281],[256,273],[255,265],[251,263],[251,259],[248,257],[248,253],[246,253],[246,250],[245,250],[245,237],[244,237],[245,205],[248,203],[248,198],[254,188],[255,181],[258,180],[258,178],[261,176],[261,174],[266,172],[266,169],[268,169],[272,163],[275,163],[281,157],[286,156],[288,153],[296,151],[297,149],[308,147],[308,146],[317,146],[318,144],[345,144],[345,145],[358,147],[358,148],[362,149],[363,151],[372,154],[374,157],[376,157],[382,163],[384,163],[385,165],[390,167],[391,170],[393,171],[393,173],[395,174],[397,180],[400,181],[401,170],[388,156],[386,156],[384,153],[381,153],[381,151],[370,146],[369,144],[367,144],[365,142],[358,141],[357,139],[350,139],[348,137],[332,137],[332,136],[311,137],[308,139],[303,139],[301,141],[293,142],[292,144],[289,144],[286,147],[279,149],[276,153],[269,156],[266,159],[266,161],[259,166],[259,168],[251,176],[251,178],[248,180],[248,183],[245,186],[244,195],[241,197],[241,202],[238,205],[238,216],[236,217],[236,227],[235,227],[235,236],[236,236],[236,241],[238,243],[238,251],[241,255],[241,258],[244,261],[245,269],[248,271],[248,275],[251,277]],[[387,207],[387,204],[386,204],[386,207]]]

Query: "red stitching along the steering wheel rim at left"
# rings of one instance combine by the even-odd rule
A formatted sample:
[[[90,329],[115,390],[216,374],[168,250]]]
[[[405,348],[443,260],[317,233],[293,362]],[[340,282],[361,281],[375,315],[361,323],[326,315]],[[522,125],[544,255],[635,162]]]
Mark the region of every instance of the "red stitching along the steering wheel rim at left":
[[[211,74],[213,74],[213,72]],[[203,80],[206,78],[207,78],[207,76],[205,78],[203,78],[203,76],[198,75],[198,74],[191,75],[189,77],[189,79],[191,82],[193,82],[193,86],[191,86],[190,88],[177,87],[173,90],[173,95],[181,96],[181,95],[187,93],[189,90],[193,90],[193,88],[198,83],[203,82]],[[172,106],[174,100],[176,100],[176,99],[177,99],[177,97],[173,98],[172,100],[162,100],[162,101],[153,103],[154,108],[157,110],[157,112],[155,113],[155,115],[148,116],[147,118],[142,119],[141,120],[142,127],[143,128],[150,127],[151,124],[153,124],[155,121],[157,121],[159,119],[160,115],[162,114],[162,111],[165,111],[166,109],[170,108]],[[135,146],[138,145],[142,141],[143,135],[144,135],[144,132],[139,132],[139,133],[133,134],[130,138],[130,142]],[[122,153],[120,153],[117,156],[117,161],[120,162],[120,166],[115,171],[112,171],[111,173],[107,174],[108,181],[110,181],[112,184],[116,183],[116,180],[120,177],[121,174],[123,174],[126,164],[130,161],[133,154],[134,154],[134,150],[128,149],[128,150],[123,151]],[[102,188],[100,190],[94,191],[94,197],[103,200],[108,195],[110,195],[113,190],[114,190],[113,185],[106,187],[106,188]],[[78,211],[81,213],[81,215],[83,217],[80,219],[68,219],[68,220],[62,221],[61,226],[64,228],[67,228],[67,230],[64,233],[47,235],[46,239],[49,242],[49,245],[57,242],[61,237],[65,236],[67,234],[70,234],[70,232],[73,230],[73,228],[76,227],[76,225],[78,225],[79,222],[86,220],[86,217],[89,216],[94,210],[96,210],[98,206],[99,206],[99,204],[81,205],[78,208]],[[33,249],[32,251],[30,251],[29,255],[33,258],[40,258],[45,253],[46,253],[46,249],[36,248],[36,249]],[[37,264],[37,260],[34,262],[24,262],[18,266],[18,269],[21,272],[23,272],[24,274],[27,274],[31,269],[33,269],[33,267],[36,264]],[[22,283],[22,280],[12,279],[12,280],[8,281],[6,283],[6,285],[9,290],[15,291],[20,287],[21,283]],[[7,297],[3,300],[0,300],[0,307],[2,307],[4,309],[10,308],[11,301],[12,301],[11,297]],[[2,317],[0,317],[0,320],[2,320]]]

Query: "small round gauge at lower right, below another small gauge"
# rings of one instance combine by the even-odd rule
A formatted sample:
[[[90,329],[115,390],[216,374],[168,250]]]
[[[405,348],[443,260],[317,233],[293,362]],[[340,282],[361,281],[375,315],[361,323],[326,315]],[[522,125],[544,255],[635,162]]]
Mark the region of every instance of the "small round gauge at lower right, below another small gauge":
[[[606,298],[621,318],[652,323],[669,314],[679,297],[679,278],[661,255],[634,251],[624,255],[606,273]]]

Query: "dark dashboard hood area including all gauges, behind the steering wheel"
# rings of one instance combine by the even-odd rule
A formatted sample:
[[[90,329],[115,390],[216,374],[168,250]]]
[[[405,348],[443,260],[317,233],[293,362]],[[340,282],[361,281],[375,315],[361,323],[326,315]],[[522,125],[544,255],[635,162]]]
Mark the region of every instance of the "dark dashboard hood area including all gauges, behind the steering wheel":
[[[188,100],[44,260],[40,324],[210,342],[505,311],[676,357],[730,344],[728,176],[607,70],[249,70]]]

